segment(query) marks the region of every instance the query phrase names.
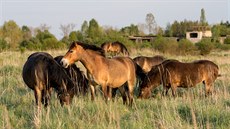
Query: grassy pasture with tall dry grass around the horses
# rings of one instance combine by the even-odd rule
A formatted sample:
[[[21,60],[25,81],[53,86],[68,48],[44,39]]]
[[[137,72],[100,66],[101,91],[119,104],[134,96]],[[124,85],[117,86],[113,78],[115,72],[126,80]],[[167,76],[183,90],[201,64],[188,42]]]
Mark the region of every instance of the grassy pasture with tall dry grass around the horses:
[[[47,51],[52,56],[63,51]],[[34,93],[22,80],[22,67],[33,51],[0,53],[0,128],[3,129],[229,129],[230,128],[230,51],[215,51],[208,56],[164,55],[166,58],[189,62],[208,59],[219,65],[221,77],[217,78],[214,93],[204,96],[202,84],[195,88],[178,89],[177,97],[161,97],[162,86],[153,97],[139,100],[135,97],[133,107],[122,104],[117,96],[106,104],[99,94],[96,100],[74,97],[71,106],[61,107],[53,93],[51,105],[36,115]],[[160,54],[151,50],[133,50],[137,55]],[[84,67],[79,65],[84,71]]]

